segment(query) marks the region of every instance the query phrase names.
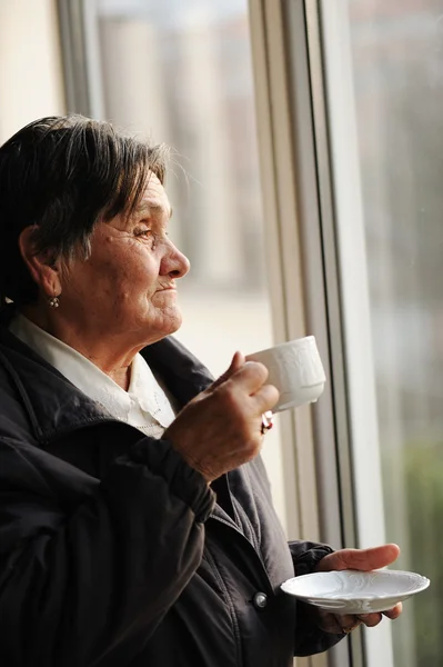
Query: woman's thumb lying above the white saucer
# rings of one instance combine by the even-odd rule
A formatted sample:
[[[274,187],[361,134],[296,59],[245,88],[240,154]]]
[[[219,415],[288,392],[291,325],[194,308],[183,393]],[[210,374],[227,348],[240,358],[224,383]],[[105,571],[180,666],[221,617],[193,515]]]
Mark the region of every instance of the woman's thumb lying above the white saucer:
[[[400,554],[397,545],[383,545],[371,549],[341,549],[322,558],[318,571],[372,570],[391,565]]]

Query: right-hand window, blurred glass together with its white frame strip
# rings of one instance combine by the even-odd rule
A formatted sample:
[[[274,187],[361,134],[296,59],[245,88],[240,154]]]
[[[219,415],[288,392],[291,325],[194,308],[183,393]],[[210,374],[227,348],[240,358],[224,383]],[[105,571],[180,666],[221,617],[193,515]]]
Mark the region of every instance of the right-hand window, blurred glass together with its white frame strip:
[[[364,542],[384,534],[402,547],[400,569],[431,578],[404,605],[393,653],[379,654],[379,664],[439,666],[443,3],[331,4],[323,2],[324,57],[359,532]],[[366,328],[360,340],[356,318]],[[365,411],[372,441],[359,430]],[[370,666],[375,655],[372,645]]]

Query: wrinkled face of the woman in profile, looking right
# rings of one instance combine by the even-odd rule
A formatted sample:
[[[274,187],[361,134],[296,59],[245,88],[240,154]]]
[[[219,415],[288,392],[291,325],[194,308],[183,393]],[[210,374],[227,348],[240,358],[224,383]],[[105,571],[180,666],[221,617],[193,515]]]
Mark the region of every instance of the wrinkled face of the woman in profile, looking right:
[[[97,225],[90,258],[73,260],[62,272],[60,301],[79,332],[148,345],[177,331],[177,279],[190,265],[168,238],[170,217],[152,173],[129,219],[119,215]]]

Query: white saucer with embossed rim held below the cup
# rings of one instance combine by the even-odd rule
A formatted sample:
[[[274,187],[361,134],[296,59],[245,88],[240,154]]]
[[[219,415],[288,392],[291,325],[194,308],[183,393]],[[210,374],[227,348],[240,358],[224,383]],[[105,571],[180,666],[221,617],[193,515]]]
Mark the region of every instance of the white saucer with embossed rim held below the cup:
[[[426,577],[415,573],[383,569],[314,573],[288,579],[281,588],[334,614],[370,614],[392,609],[429,585]]]

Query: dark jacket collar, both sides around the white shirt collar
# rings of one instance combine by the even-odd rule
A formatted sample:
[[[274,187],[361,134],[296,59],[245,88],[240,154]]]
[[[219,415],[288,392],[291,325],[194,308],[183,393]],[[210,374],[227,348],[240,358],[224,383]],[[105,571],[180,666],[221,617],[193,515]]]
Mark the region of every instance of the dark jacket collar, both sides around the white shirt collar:
[[[12,315],[12,308],[7,308],[0,316],[0,374],[3,369],[20,395],[36,439],[48,442],[62,434],[109,421],[109,414],[95,401],[8,330]],[[212,381],[204,366],[174,338],[148,346],[141,354],[179,408]],[[0,381],[0,391],[4,381]]]

